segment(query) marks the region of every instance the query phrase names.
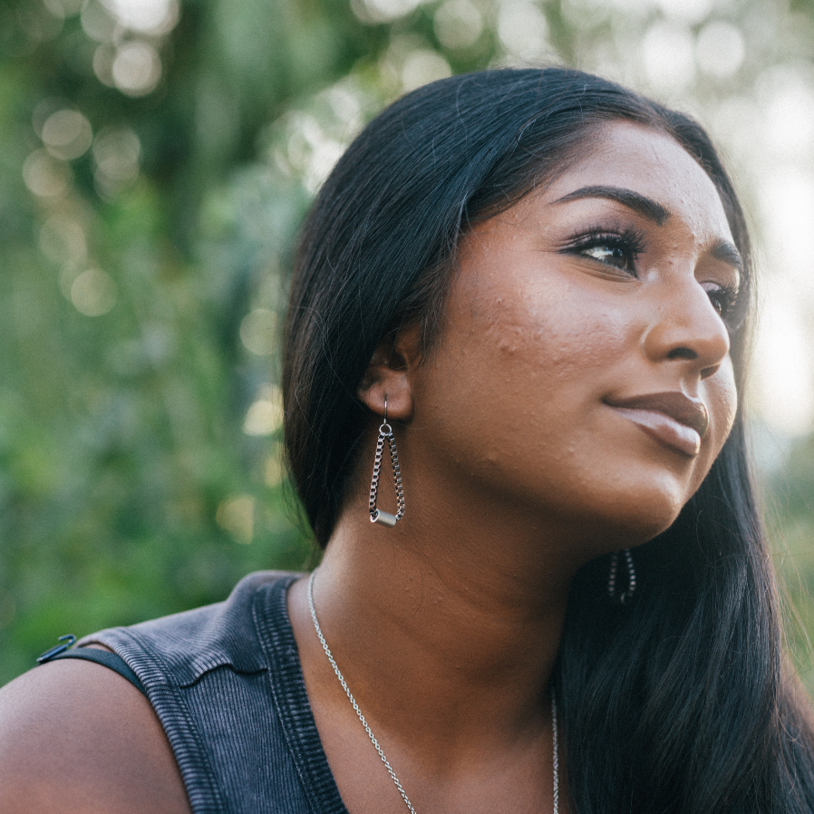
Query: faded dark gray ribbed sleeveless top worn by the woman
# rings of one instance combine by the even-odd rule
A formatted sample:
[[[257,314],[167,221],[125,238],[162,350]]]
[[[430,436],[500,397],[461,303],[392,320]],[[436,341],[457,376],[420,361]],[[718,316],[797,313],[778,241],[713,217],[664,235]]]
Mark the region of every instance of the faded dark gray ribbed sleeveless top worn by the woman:
[[[242,579],[226,602],[86,636],[139,676],[195,814],[348,814],[286,610],[296,577]]]

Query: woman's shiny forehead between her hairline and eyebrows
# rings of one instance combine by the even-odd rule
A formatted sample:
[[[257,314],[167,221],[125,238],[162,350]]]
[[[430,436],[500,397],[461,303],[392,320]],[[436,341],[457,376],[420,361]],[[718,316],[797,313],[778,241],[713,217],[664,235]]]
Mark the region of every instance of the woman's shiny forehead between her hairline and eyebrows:
[[[628,121],[604,125],[588,136],[576,163],[538,195],[554,201],[587,186],[632,189],[664,207],[697,237],[732,240],[712,179],[671,136]]]

